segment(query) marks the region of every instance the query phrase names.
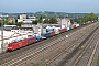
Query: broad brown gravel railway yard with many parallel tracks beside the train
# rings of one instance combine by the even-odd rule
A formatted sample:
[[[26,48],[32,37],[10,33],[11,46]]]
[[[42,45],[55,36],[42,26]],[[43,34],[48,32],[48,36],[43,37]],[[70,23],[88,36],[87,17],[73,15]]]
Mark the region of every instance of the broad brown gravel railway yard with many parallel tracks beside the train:
[[[0,54],[0,66],[97,66],[99,22]]]

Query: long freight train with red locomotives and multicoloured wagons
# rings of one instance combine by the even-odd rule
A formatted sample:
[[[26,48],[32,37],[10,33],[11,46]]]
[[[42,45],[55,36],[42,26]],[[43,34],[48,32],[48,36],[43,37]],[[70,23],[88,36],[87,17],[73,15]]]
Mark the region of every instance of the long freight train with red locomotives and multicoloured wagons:
[[[56,31],[47,32],[45,34],[42,34],[42,36],[37,35],[37,36],[33,36],[33,37],[29,37],[29,38],[20,40],[18,42],[10,43],[10,44],[8,44],[7,51],[18,50],[20,47],[33,44],[35,42],[43,41],[43,38],[48,38],[48,37],[54,36],[56,34],[64,33],[64,32],[69,31],[72,29],[76,29],[76,25],[69,26],[69,29],[65,28],[65,29],[59,29]]]

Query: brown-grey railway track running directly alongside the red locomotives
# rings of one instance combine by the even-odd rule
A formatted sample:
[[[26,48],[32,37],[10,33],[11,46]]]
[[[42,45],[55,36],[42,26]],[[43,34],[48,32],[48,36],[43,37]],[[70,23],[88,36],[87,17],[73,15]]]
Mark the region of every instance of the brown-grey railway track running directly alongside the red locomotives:
[[[69,32],[68,32],[69,33]],[[59,35],[57,35],[58,37],[59,36],[63,36],[64,35],[64,33],[63,34],[59,34]],[[56,38],[56,36],[55,37],[50,37],[50,38],[47,38],[47,40],[44,40],[44,41],[41,41],[41,42],[38,42],[38,43],[35,43],[35,44],[31,44],[31,45],[29,45],[29,46],[26,46],[26,47],[22,47],[22,48],[19,48],[19,50],[16,50],[16,51],[13,51],[13,52],[7,52],[7,53],[3,53],[3,54],[0,54],[0,59],[3,59],[3,58],[8,58],[8,57],[13,57],[13,56],[16,56],[16,55],[21,55],[22,53],[24,53],[25,51],[30,51],[30,48],[37,48],[37,47],[40,47],[40,46],[42,46],[42,44],[43,45],[45,45],[45,44],[47,44],[47,42],[48,43],[51,43],[52,41],[54,41]],[[1,63],[1,62],[0,62]]]

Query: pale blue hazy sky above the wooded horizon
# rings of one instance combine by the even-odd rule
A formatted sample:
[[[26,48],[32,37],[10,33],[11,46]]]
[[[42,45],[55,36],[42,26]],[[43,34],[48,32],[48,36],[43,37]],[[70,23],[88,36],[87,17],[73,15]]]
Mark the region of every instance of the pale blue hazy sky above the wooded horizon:
[[[99,13],[99,0],[0,0],[0,12]]]

